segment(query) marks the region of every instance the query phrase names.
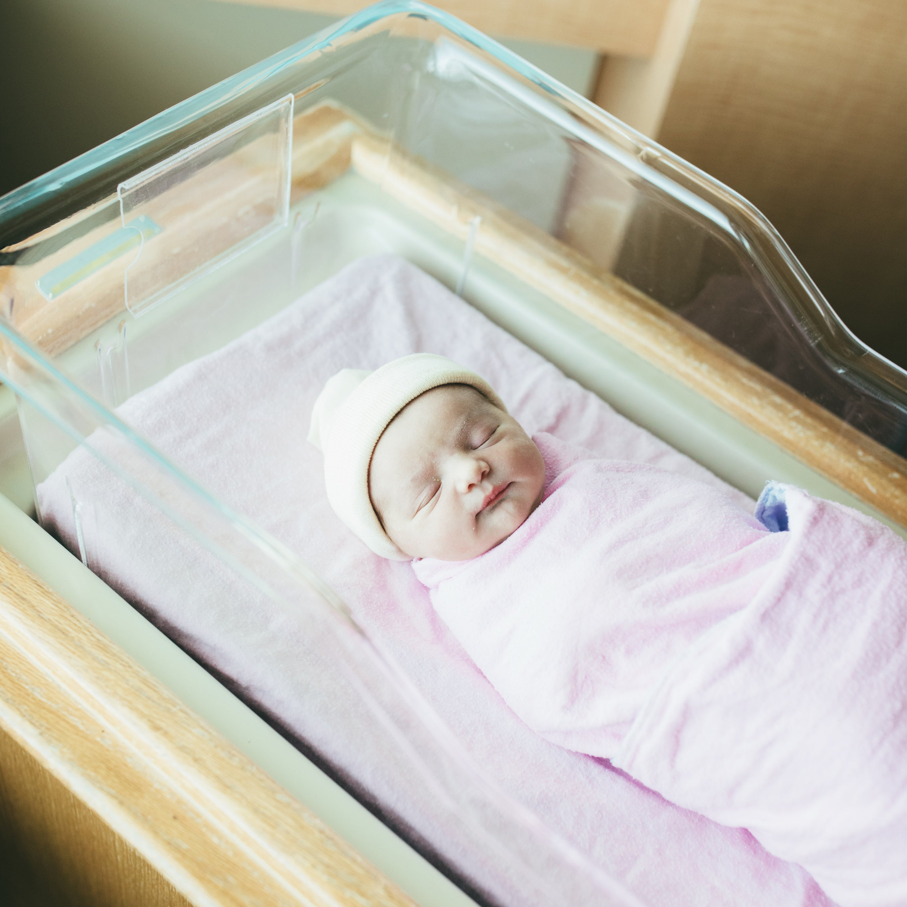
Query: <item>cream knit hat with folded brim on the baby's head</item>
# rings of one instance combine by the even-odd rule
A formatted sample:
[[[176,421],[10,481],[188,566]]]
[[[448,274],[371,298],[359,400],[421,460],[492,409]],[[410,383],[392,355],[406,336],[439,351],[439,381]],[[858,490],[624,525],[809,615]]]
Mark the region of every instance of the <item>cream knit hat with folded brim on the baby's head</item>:
[[[403,356],[375,372],[345,368],[328,379],[312,411],[308,440],[325,454],[327,500],[375,554],[391,561],[410,557],[388,538],[375,514],[368,467],[375,444],[394,416],[440,385],[470,385],[507,412],[481,375],[432,353]]]

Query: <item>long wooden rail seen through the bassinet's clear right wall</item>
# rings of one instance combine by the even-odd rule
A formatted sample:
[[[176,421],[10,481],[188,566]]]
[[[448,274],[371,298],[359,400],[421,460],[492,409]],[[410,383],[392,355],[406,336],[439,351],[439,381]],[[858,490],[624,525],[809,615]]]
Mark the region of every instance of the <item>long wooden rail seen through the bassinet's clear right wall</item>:
[[[844,490],[907,526],[907,461],[532,224],[374,136],[353,166],[424,218],[677,378]]]

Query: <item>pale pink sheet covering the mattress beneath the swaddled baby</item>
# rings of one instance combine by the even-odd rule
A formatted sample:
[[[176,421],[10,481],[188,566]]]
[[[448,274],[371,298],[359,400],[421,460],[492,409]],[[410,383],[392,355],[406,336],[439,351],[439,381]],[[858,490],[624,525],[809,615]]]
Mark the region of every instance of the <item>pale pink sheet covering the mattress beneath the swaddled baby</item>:
[[[336,518],[324,493],[321,455],[306,442],[315,398],[340,368],[375,368],[416,351],[451,356],[483,374],[531,434],[550,432],[600,456],[698,478],[752,506],[399,258],[354,262],[277,317],[135,395],[121,411],[221,500],[325,577],[488,775],[644,900],[678,907],[829,904],[808,873],[770,856],[752,835],[668,804],[607,761],[532,732],[434,613],[409,564],[381,561]],[[103,439],[97,442],[103,446]],[[481,846],[454,837],[439,807],[412,795],[411,778],[393,760],[362,752],[353,729],[345,736],[336,714],[355,723],[361,707],[344,698],[336,676],[319,673],[319,653],[310,651],[292,619],[251,595],[219,561],[201,558],[160,512],[83,449],[38,490],[46,525],[71,550],[78,547],[70,487],[102,517],[95,529],[86,526],[94,532],[86,541],[93,566],[114,588],[366,791],[405,834],[456,866],[489,899],[514,902],[512,880]]]

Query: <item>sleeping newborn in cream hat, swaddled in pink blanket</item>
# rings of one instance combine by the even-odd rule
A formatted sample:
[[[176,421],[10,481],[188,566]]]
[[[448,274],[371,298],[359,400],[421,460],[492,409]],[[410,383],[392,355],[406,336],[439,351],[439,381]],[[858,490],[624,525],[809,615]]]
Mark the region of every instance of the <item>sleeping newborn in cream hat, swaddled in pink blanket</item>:
[[[538,734],[748,828],[843,905],[907,903],[907,545],[770,483],[530,438],[443,356],[346,369],[327,496]]]

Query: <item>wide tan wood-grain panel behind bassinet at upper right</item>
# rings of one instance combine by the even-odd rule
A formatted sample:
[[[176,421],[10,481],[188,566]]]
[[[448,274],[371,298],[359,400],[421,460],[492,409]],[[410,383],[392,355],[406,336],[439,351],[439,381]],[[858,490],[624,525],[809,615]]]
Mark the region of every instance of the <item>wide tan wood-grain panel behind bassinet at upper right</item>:
[[[907,4],[701,0],[657,138],[753,202],[907,366]]]

